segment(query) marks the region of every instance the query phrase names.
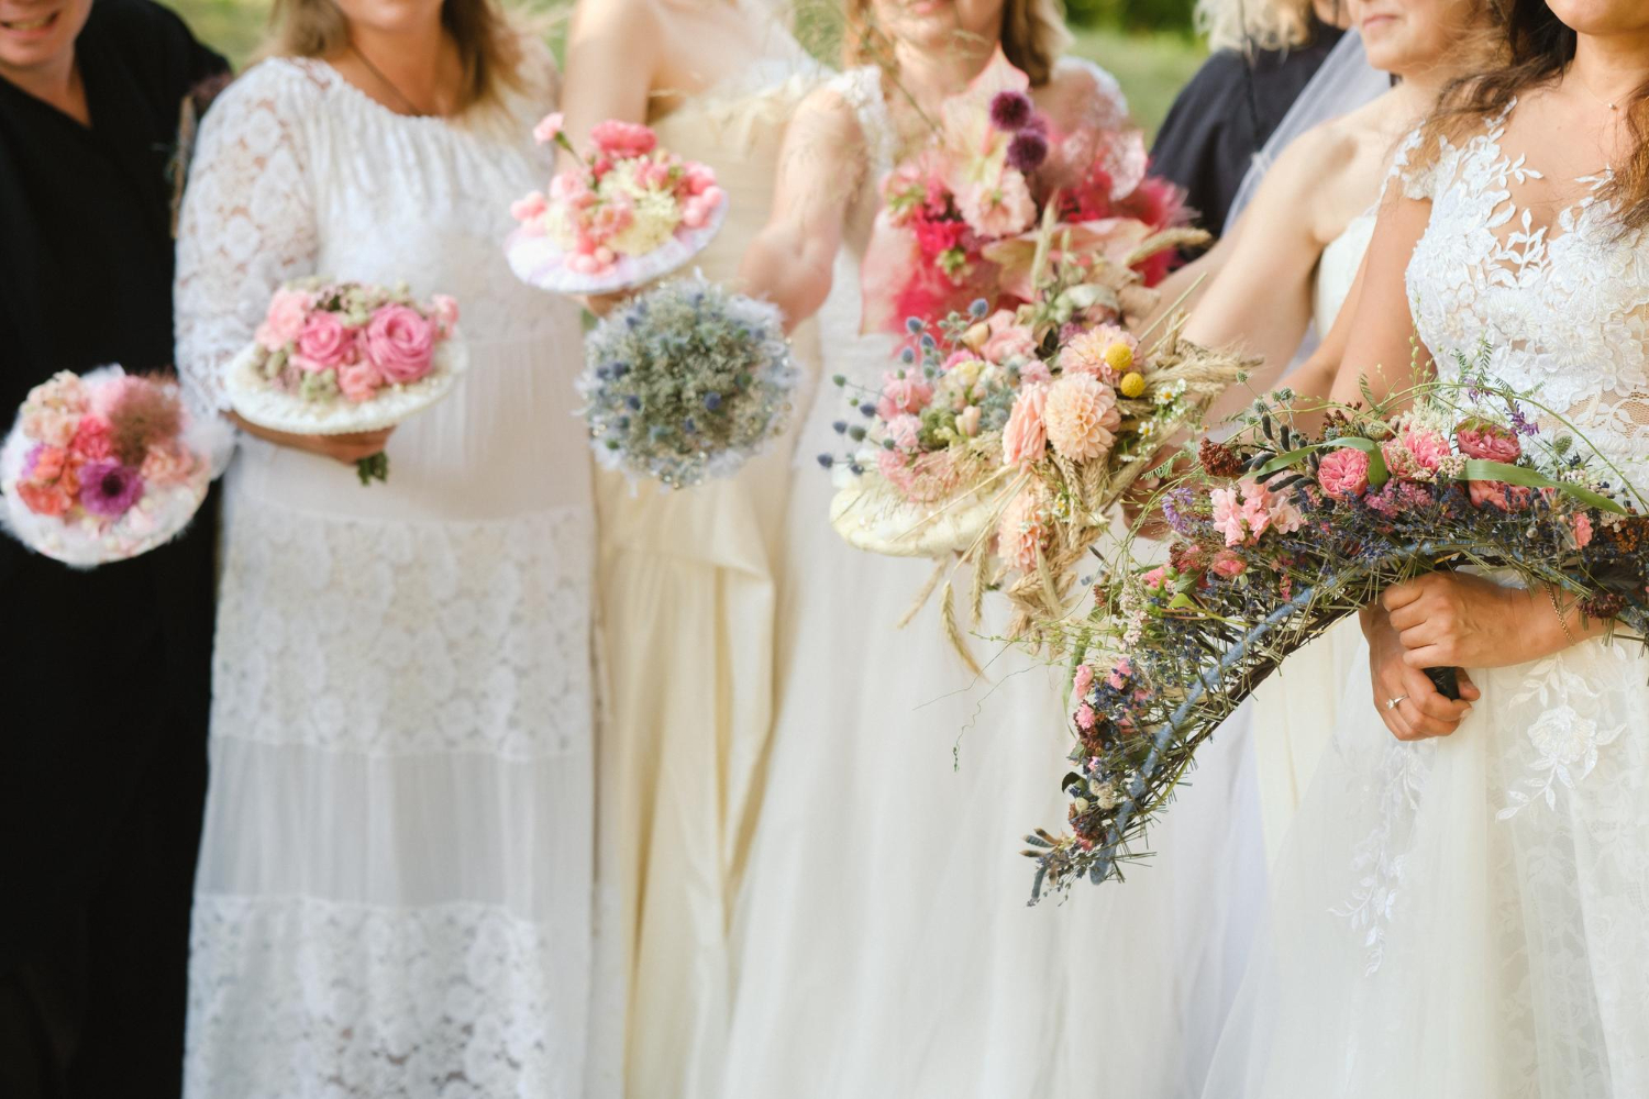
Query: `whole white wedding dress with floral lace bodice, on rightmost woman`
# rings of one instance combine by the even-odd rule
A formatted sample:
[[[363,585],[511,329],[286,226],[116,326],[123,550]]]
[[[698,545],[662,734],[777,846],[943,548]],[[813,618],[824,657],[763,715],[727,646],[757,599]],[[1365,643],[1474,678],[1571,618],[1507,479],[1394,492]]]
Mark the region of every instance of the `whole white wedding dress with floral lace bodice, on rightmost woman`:
[[[1646,234],[1618,232],[1604,176],[1540,224],[1539,153],[1506,145],[1494,124],[1407,181],[1431,201],[1420,338],[1445,377],[1487,341],[1642,486]],[[1207,1099],[1649,1094],[1649,659],[1586,641],[1471,676],[1459,730],[1420,743],[1349,677]]]

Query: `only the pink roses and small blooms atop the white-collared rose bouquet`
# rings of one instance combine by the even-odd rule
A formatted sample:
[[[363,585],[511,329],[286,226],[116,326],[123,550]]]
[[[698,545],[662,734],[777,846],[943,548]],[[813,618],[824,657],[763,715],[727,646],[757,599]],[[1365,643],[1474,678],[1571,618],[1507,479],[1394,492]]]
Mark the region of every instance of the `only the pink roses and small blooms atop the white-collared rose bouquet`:
[[[457,323],[458,303],[444,293],[419,308],[363,283],[297,285],[270,298],[256,341],[265,374],[285,376],[289,387],[302,374],[331,374],[338,392],[359,404],[425,377]]]

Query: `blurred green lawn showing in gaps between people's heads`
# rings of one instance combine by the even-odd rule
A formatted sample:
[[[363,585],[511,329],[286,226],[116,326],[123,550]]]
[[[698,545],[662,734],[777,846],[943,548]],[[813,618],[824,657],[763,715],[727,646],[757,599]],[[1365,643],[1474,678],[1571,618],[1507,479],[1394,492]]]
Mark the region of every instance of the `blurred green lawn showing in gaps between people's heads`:
[[[265,0],[162,0],[176,8],[195,33],[237,68],[246,63],[269,18]],[[1177,35],[1077,31],[1077,53],[1093,58],[1121,81],[1135,117],[1151,133],[1174,94],[1202,63],[1202,46]]]

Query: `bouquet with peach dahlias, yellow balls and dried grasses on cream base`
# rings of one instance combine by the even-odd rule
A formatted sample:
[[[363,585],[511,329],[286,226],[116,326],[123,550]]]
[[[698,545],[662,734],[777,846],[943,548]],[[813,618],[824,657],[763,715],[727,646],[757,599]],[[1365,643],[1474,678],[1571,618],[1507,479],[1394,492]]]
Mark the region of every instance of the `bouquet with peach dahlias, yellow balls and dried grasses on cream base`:
[[[854,409],[834,427],[856,450],[820,456],[846,468],[831,521],[849,544],[960,554],[975,565],[975,618],[996,587],[1014,603],[1009,636],[1032,643],[1041,621],[1064,615],[1110,507],[1248,366],[1182,339],[1177,320],[1141,343],[1151,333],[1133,334],[1123,311],[1138,272],[1069,250],[1050,260],[1054,232],[1065,236],[1044,236],[1037,269],[1050,274],[1034,302],[991,313],[981,298],[935,325],[910,318],[910,344],[881,389],[838,377]]]

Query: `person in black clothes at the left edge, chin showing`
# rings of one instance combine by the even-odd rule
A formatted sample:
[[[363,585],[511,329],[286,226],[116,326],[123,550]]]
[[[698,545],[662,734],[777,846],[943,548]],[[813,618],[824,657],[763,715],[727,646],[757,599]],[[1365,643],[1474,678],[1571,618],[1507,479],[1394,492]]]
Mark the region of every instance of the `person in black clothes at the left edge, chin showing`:
[[[148,0],[0,0],[0,419],[171,362],[168,160],[226,69]],[[0,1094],[176,1096],[213,519],[73,572],[0,537]]]

